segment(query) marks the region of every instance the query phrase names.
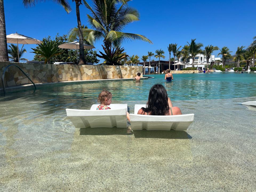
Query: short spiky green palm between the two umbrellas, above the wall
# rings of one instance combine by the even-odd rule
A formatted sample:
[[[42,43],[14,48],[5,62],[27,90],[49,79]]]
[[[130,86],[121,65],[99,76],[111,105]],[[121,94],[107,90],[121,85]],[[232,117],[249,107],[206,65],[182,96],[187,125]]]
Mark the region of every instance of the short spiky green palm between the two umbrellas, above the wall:
[[[43,57],[45,58],[45,63],[47,62],[48,64],[51,63],[51,58],[54,55],[59,55],[62,52],[58,52],[58,46],[55,45],[55,43],[53,41],[47,43],[47,44],[39,44],[39,49],[33,49],[33,52],[31,53],[35,53],[35,54],[39,54],[39,57]]]

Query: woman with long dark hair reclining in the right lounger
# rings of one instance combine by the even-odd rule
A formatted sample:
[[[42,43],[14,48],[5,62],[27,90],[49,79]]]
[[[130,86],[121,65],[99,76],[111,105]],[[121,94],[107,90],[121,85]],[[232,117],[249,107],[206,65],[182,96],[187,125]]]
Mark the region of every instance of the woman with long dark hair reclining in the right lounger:
[[[179,107],[173,107],[166,89],[156,84],[149,91],[149,99],[145,107],[138,111],[139,115],[182,115]]]

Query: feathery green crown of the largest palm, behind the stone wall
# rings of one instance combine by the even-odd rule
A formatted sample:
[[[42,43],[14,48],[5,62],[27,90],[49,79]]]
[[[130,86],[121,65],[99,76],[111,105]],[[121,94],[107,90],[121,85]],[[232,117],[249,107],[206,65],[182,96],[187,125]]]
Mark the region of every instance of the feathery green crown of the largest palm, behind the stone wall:
[[[93,8],[83,0],[85,6],[91,11],[91,15],[87,14],[88,21],[93,29],[82,29],[83,37],[91,45],[103,38],[104,46],[109,49],[112,46],[118,47],[124,40],[139,39],[152,43],[143,35],[134,33],[124,33],[122,30],[126,25],[133,21],[139,21],[139,12],[133,7],[127,5],[128,0],[92,0]],[[117,5],[122,3],[120,7]],[[69,41],[75,39],[75,34],[71,29],[69,33]]]

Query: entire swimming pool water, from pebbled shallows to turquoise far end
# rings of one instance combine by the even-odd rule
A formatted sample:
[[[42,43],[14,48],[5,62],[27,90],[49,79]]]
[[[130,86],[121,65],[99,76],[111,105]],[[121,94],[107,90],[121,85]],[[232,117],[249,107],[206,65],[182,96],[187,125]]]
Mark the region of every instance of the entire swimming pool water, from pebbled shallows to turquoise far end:
[[[149,76],[1,95],[0,191],[253,191],[256,108],[241,103],[256,101],[256,73]],[[103,88],[133,113],[156,83],[195,114],[186,132],[75,129],[66,117],[66,108],[90,109]]]

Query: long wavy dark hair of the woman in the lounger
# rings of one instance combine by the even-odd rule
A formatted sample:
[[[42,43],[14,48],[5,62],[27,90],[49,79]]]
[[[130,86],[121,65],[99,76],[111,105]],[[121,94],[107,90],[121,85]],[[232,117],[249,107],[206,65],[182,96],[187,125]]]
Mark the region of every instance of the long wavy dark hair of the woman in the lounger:
[[[168,95],[165,87],[156,84],[149,91],[149,100],[146,108],[141,108],[150,115],[165,115],[169,113]]]

